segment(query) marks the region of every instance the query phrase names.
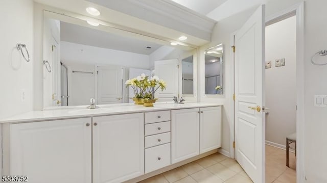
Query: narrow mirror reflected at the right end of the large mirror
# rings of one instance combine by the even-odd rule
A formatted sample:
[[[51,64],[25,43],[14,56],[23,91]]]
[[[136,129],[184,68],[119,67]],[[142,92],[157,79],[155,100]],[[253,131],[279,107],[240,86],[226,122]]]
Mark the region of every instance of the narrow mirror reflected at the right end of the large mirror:
[[[182,59],[182,94],[193,94],[193,55]]]

